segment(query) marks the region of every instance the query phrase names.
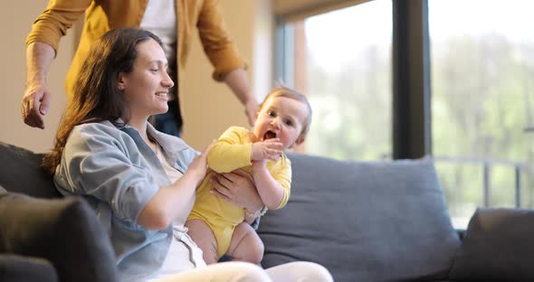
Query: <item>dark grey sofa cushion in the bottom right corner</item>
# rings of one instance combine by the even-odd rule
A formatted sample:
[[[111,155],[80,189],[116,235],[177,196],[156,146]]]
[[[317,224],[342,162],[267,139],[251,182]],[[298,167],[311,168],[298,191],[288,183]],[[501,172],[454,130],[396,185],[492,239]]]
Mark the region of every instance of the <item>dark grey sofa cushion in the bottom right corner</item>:
[[[534,281],[534,211],[484,209],[474,212],[451,278],[458,281]]]

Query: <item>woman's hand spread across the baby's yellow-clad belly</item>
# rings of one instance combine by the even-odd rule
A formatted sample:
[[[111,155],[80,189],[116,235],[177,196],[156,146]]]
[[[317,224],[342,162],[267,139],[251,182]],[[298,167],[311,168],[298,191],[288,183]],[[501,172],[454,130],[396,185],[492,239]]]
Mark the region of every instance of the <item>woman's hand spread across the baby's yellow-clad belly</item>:
[[[253,177],[238,169],[229,174],[214,174],[211,191],[224,201],[234,203],[249,212],[261,211],[263,207],[260,194],[256,190]]]

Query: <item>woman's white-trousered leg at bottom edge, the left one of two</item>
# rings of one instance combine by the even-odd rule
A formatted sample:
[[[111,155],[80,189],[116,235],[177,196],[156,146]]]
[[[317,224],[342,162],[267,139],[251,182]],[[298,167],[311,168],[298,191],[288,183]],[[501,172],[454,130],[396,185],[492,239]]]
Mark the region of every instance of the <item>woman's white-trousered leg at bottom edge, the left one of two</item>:
[[[195,268],[176,275],[150,280],[150,282],[272,282],[262,268],[247,262],[221,262],[205,268]],[[284,281],[284,280],[280,280]]]

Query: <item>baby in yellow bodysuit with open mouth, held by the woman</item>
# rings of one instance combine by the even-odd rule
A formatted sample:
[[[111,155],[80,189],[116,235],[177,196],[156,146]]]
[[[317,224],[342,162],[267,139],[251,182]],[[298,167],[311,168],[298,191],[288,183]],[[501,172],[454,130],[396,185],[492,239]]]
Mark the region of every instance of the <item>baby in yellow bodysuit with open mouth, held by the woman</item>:
[[[262,202],[280,209],[290,197],[291,162],[283,150],[300,145],[310,128],[311,107],[299,92],[277,87],[263,100],[253,132],[230,127],[209,152],[207,163],[217,173],[242,168],[253,176]],[[188,233],[204,253],[207,264],[224,254],[233,260],[260,263],[263,244],[245,215],[259,216],[226,202],[215,194],[207,174],[196,190],[193,211],[187,218]]]

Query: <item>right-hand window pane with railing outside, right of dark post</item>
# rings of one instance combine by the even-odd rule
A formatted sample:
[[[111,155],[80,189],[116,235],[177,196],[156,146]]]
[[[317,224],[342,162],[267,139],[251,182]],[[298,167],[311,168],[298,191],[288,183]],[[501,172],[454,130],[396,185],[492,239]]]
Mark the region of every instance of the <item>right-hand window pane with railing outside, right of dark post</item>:
[[[534,207],[534,2],[429,0],[432,144],[453,224]]]

